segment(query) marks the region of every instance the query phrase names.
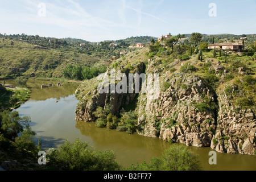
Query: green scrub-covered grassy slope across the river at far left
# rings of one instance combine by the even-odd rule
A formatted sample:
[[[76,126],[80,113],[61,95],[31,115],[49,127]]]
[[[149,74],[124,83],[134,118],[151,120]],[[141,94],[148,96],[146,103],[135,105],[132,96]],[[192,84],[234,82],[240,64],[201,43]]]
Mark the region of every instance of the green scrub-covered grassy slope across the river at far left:
[[[35,73],[38,77],[61,77],[68,64],[97,66],[106,64],[98,58],[57,49],[45,49],[40,46],[10,40],[0,39],[0,76],[12,75],[18,72],[24,75]]]

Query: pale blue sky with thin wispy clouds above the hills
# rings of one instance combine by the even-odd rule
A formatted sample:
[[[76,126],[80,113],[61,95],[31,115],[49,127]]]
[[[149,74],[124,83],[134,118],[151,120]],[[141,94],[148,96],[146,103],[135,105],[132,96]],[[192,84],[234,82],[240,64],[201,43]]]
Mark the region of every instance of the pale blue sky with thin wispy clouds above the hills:
[[[256,34],[256,0],[0,0],[0,33],[90,42]]]

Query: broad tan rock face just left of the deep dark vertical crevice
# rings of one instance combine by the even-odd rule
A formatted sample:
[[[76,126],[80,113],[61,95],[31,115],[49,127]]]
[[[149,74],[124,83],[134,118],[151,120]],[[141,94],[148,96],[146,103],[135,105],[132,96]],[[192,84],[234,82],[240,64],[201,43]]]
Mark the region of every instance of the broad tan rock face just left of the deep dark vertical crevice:
[[[205,97],[214,102],[213,94],[200,78],[189,74],[178,74],[169,83],[170,88],[158,100],[147,100],[147,95],[141,95],[139,115],[146,113],[147,117],[138,121],[138,125],[145,123],[139,134],[209,147],[216,128],[215,115],[210,109],[199,111],[195,104],[203,104]],[[156,121],[160,126],[155,126]]]

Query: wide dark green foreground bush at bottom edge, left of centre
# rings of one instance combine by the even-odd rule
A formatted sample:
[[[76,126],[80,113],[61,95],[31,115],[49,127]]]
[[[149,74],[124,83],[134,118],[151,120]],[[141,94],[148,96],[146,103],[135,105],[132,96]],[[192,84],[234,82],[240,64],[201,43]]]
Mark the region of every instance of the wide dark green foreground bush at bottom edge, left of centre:
[[[53,150],[47,167],[56,171],[118,171],[121,166],[113,151],[95,151],[79,139],[66,141],[59,150]]]

